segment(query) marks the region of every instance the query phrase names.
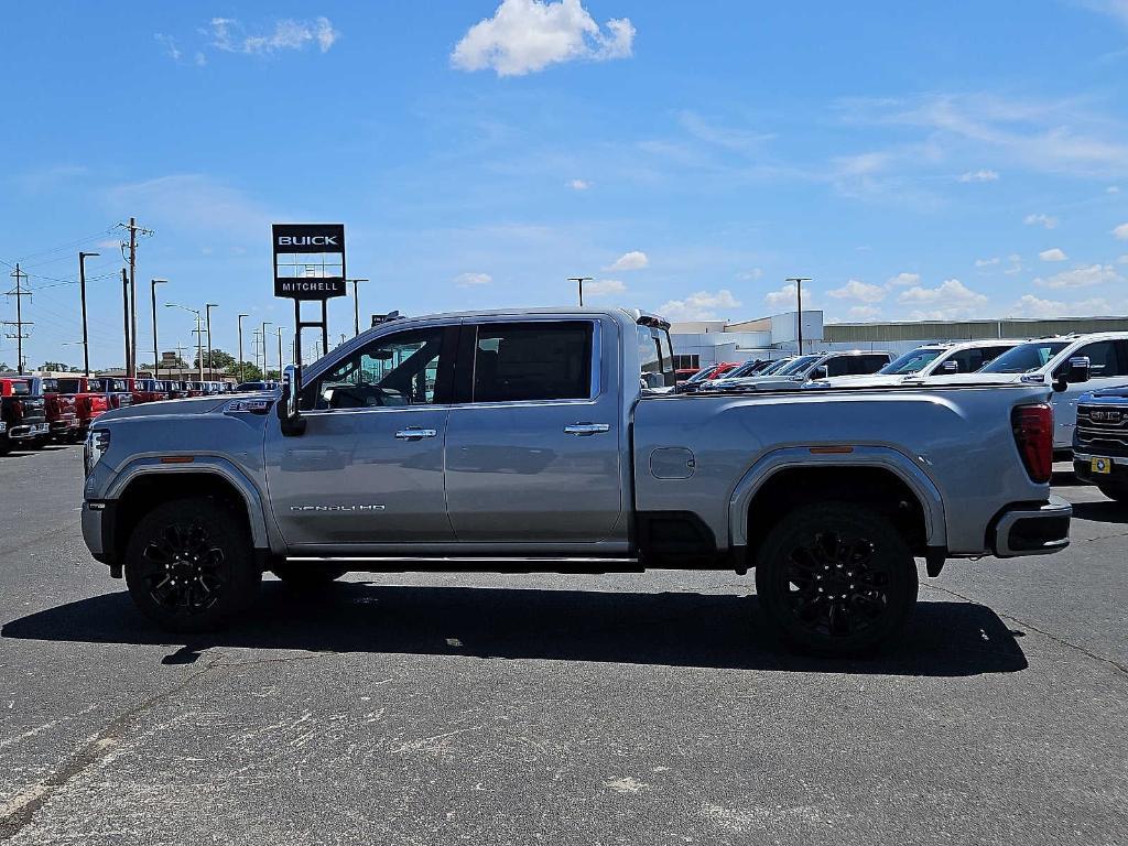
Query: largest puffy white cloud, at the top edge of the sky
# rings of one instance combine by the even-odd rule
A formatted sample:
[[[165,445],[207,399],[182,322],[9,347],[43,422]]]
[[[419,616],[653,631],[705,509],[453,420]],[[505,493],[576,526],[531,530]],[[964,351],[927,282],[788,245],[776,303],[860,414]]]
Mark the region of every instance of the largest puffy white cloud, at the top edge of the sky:
[[[519,77],[578,59],[625,59],[634,36],[627,18],[613,18],[600,28],[580,0],[502,0],[492,18],[466,32],[450,63],[464,71],[492,68],[499,77]]]

